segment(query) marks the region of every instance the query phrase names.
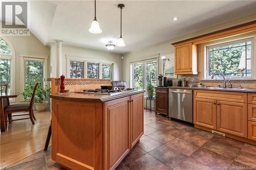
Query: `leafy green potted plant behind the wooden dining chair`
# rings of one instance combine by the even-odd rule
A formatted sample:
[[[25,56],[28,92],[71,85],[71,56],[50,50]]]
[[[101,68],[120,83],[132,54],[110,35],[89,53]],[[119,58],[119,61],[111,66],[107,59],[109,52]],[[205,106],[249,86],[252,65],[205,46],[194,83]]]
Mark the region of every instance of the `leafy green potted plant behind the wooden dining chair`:
[[[35,85],[33,83],[26,83],[26,88],[24,89],[24,92],[22,92],[22,95],[25,101],[30,100],[33,94],[34,86]],[[47,85],[45,87],[42,87],[41,83],[39,83],[35,91],[35,99],[34,99],[34,104],[37,111],[46,110],[50,92],[51,92],[50,87],[48,87]]]

